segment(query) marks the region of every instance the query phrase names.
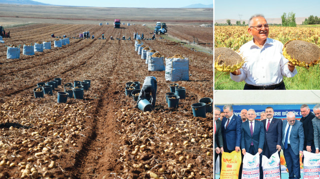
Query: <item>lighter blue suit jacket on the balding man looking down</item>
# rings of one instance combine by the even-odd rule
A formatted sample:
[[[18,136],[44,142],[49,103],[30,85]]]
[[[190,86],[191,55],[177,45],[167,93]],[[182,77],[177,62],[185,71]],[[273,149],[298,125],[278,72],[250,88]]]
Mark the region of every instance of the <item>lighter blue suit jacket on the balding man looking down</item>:
[[[282,125],[282,147],[284,146],[285,127],[287,123],[288,123],[287,120],[284,120]],[[300,121],[295,120],[295,123],[291,127],[289,139],[290,139],[290,146],[294,155],[299,155],[299,151],[303,151],[303,143],[304,143],[303,126]]]

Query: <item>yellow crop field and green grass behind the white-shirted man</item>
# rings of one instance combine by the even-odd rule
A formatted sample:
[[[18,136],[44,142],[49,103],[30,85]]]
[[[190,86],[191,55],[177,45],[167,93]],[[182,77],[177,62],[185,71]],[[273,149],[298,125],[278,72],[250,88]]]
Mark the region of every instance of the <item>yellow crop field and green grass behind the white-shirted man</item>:
[[[269,27],[269,38],[279,40],[283,44],[292,39],[301,39],[311,43],[320,45],[318,34],[320,28],[317,27]],[[214,27],[214,47],[228,47],[234,51],[246,42],[252,40],[252,36],[247,32],[247,26],[215,26]],[[283,78],[286,89],[290,90],[318,90],[320,84],[319,65],[314,65],[306,69],[304,67],[295,67],[298,73],[293,78]],[[214,71],[214,89],[243,89],[245,84],[242,82],[234,82],[230,79],[229,73]]]

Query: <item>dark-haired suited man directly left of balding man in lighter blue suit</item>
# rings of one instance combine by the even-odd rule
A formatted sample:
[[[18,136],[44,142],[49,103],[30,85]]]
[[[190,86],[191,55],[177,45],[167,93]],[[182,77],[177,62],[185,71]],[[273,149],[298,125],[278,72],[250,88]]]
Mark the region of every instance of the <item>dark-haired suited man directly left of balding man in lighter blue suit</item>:
[[[262,120],[264,126],[264,145],[263,155],[270,158],[272,154],[278,152],[280,158],[281,142],[282,142],[282,120],[273,118],[273,108],[265,108],[266,119]],[[279,170],[281,171],[280,165]],[[260,179],[262,179],[263,173],[260,168]]]

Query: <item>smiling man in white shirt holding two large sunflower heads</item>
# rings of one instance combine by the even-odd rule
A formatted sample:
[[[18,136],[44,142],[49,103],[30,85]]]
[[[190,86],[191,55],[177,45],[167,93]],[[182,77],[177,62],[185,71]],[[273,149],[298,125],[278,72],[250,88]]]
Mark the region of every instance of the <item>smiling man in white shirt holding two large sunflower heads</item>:
[[[283,76],[293,77],[297,71],[282,55],[283,44],[268,38],[269,25],[263,15],[250,17],[248,33],[253,39],[239,49],[246,63],[231,72],[230,78],[244,80],[244,90],[285,90]]]

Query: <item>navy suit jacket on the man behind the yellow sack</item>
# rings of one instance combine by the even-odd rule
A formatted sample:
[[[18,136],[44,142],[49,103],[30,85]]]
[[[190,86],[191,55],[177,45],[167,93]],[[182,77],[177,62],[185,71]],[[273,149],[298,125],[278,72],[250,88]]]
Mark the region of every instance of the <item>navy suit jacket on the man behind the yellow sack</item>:
[[[240,147],[242,120],[240,117],[235,116],[233,114],[231,120],[229,121],[229,125],[226,129],[224,128],[225,123],[227,123],[227,118],[223,117],[221,123],[223,147],[226,147],[229,151],[234,151],[235,146]]]

